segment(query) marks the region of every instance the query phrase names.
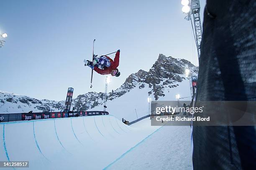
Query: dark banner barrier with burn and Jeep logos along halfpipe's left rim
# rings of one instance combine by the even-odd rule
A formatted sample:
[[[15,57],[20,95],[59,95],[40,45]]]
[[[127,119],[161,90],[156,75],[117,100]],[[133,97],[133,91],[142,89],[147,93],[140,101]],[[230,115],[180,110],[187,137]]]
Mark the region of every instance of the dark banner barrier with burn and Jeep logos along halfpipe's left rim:
[[[19,120],[37,120],[75,116],[109,115],[105,111],[79,111],[79,112],[35,112],[35,113],[8,113],[0,114],[0,122],[11,122]]]

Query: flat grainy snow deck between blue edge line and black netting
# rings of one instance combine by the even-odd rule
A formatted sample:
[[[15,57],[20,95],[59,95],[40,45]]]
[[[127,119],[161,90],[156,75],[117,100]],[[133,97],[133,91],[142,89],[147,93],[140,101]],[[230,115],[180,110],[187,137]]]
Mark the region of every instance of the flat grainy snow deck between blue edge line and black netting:
[[[191,170],[190,127],[162,126],[108,170]]]

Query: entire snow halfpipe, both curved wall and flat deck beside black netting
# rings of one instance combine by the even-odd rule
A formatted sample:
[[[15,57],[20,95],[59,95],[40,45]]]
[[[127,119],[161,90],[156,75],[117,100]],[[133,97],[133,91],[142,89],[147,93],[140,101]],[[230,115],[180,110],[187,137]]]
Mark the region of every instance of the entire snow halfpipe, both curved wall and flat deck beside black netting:
[[[131,126],[112,115],[3,122],[0,131],[0,160],[28,160],[24,170],[192,168],[190,127],[149,117]]]

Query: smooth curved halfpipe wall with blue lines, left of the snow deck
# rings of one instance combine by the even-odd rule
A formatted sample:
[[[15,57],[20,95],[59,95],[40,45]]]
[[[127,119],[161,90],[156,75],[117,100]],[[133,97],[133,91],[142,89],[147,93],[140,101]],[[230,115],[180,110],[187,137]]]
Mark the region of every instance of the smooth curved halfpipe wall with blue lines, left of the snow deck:
[[[24,170],[100,170],[158,128],[111,115],[3,122],[0,160],[29,161]]]

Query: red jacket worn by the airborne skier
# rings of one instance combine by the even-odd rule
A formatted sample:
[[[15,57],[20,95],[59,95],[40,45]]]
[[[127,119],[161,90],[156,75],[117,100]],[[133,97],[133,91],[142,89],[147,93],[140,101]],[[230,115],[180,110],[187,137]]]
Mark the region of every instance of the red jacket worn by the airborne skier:
[[[118,67],[118,65],[119,65],[119,55],[120,55],[120,52],[119,52],[119,51],[115,53],[114,61],[113,61],[110,57],[108,57],[108,56],[105,55],[105,56],[108,57],[108,59],[110,60],[110,67],[105,67],[104,70],[101,70],[101,69],[99,69],[98,67],[94,67],[93,70],[95,70],[97,73],[99,73],[99,74],[101,74],[101,75],[110,74],[111,71],[112,71],[112,70],[115,70],[115,69]]]

